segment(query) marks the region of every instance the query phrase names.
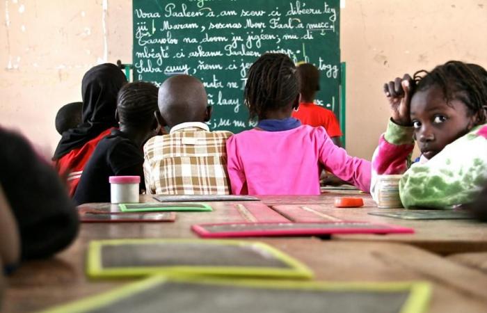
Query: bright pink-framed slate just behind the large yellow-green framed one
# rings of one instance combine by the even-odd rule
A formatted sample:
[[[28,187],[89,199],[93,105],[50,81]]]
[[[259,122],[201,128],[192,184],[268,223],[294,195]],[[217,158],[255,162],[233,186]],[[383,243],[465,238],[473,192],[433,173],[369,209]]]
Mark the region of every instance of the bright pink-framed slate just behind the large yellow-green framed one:
[[[196,224],[191,226],[191,230],[205,238],[414,233],[414,230],[408,227],[354,221]]]

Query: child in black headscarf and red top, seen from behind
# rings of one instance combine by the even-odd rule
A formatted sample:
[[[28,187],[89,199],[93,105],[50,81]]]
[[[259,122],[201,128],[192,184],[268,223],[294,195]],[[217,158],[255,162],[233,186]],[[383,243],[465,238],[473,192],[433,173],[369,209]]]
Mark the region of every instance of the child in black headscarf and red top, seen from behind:
[[[63,133],[52,158],[59,175],[67,177],[70,196],[74,195],[83,168],[99,141],[110,134],[112,127],[117,127],[117,94],[125,83],[125,75],[111,63],[92,67],[81,81],[82,123]]]

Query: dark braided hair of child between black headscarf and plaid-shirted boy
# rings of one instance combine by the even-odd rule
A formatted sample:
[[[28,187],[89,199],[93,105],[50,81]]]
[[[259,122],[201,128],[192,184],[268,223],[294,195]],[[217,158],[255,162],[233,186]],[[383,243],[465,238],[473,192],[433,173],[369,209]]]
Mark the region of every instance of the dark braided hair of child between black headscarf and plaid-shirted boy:
[[[118,92],[117,111],[120,123],[125,125],[148,125],[155,119],[157,93],[153,83],[136,81],[127,83]]]

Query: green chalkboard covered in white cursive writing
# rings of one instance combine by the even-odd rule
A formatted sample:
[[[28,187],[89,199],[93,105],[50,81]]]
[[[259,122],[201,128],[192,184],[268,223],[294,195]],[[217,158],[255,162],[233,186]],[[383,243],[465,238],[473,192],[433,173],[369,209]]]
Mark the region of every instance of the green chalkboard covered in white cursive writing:
[[[134,79],[198,77],[214,106],[213,130],[255,126],[243,88],[266,51],[316,65],[317,103],[340,116],[340,0],[134,0],[133,13]]]

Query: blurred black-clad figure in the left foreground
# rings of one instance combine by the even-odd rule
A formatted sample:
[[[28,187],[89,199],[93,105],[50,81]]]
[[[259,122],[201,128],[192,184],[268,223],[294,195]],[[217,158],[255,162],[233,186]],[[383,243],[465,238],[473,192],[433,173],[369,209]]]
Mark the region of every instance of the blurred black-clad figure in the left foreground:
[[[0,147],[0,184],[19,229],[20,257],[50,257],[77,236],[74,204],[52,166],[22,136],[0,127]]]

